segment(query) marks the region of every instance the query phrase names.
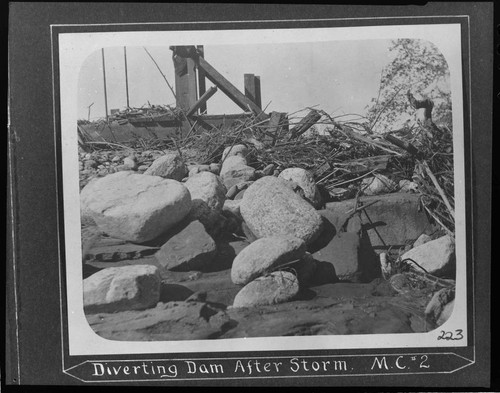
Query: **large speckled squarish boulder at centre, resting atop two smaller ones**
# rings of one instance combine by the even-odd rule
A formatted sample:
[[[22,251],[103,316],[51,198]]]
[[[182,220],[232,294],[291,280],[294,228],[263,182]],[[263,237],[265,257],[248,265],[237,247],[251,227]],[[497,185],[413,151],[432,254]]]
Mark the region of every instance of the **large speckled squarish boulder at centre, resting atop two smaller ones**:
[[[261,237],[298,237],[306,244],[321,233],[323,222],[311,204],[283,179],[265,176],[243,195],[240,212],[251,232]]]

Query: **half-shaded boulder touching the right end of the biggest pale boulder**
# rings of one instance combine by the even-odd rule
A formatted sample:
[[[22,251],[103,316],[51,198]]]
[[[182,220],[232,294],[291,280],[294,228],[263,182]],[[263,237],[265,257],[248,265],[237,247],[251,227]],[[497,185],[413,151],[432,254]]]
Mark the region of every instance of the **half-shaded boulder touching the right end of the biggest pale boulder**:
[[[199,220],[209,230],[215,228],[226,199],[226,187],[220,177],[211,172],[200,172],[191,176],[184,185],[191,194],[191,219]]]

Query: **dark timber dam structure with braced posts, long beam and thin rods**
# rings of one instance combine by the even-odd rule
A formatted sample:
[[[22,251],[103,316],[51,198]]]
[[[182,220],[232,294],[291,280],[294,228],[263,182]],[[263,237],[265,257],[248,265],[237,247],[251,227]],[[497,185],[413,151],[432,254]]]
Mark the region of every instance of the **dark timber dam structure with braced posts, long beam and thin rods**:
[[[146,50],[146,48],[144,49]],[[263,111],[259,76],[244,74],[244,92],[241,92],[204,58],[203,46],[170,46],[169,49],[172,51],[175,69],[175,88],[170,85],[149,52],[147,50],[146,52],[174,94],[176,108],[155,107],[153,105],[150,108],[138,110],[128,106],[127,59],[126,48],[124,48],[127,109],[125,111],[111,110],[110,114],[108,114],[106,98],[104,49],[102,50],[106,118],[93,122],[78,121],[78,136],[82,147],[89,141],[105,145],[113,142],[124,144],[138,139],[169,140],[186,136],[188,133],[197,132],[200,129],[231,127],[232,124],[250,117],[257,119],[260,128],[264,129],[265,133],[271,137],[278,132],[285,131],[285,129],[288,131],[286,113],[271,112],[267,114]],[[214,85],[208,89],[206,87],[207,79]],[[241,108],[242,112],[223,115],[208,114],[207,101],[219,90]],[[304,118],[304,122],[298,124],[292,131],[302,133],[304,126],[309,128],[314,124],[314,121],[317,121],[314,115],[317,114],[313,114],[314,119],[311,119],[309,115],[306,116],[307,119]]]

